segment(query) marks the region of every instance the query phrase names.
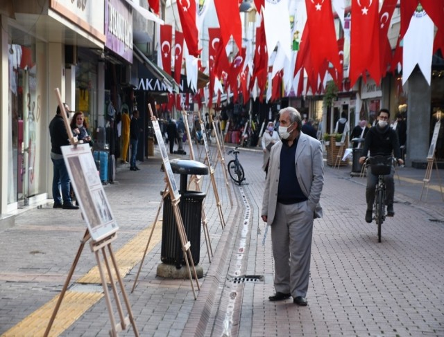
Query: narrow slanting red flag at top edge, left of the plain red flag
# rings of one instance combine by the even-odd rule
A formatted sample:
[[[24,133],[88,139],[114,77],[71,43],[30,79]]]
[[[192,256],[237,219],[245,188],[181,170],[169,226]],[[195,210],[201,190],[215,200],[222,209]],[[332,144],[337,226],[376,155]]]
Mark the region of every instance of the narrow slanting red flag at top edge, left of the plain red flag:
[[[189,55],[198,57],[200,54],[200,50],[198,29],[196,26],[196,0],[178,0],[176,3],[178,6],[183,36],[188,47],[188,53]]]

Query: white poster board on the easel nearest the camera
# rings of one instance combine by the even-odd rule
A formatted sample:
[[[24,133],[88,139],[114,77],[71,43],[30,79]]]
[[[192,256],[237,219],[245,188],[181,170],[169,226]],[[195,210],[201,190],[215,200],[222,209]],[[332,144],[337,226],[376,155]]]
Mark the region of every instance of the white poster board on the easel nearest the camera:
[[[76,199],[92,240],[97,242],[119,229],[88,144],[62,146]]]

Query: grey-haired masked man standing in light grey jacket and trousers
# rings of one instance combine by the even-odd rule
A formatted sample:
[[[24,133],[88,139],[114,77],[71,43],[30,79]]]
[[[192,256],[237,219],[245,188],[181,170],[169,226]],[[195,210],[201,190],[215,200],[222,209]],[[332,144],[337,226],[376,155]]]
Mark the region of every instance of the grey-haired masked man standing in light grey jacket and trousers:
[[[296,109],[279,111],[279,122],[282,141],[271,148],[262,201],[275,261],[276,293],[269,300],[293,296],[295,304],[306,306],[313,221],[322,217],[323,153],[321,142],[300,132]]]

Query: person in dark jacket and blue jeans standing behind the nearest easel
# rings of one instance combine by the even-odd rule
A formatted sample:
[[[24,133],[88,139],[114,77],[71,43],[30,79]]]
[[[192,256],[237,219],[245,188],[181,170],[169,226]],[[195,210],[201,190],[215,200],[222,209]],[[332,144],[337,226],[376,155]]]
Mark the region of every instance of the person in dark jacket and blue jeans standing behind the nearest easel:
[[[67,104],[65,111],[69,111]],[[53,208],[65,210],[78,210],[78,206],[72,204],[69,174],[63,159],[60,147],[69,145],[65,120],[63,120],[62,109],[57,107],[57,114],[49,123],[49,136],[51,137],[51,161],[53,162]],[[60,196],[60,190],[62,195]]]

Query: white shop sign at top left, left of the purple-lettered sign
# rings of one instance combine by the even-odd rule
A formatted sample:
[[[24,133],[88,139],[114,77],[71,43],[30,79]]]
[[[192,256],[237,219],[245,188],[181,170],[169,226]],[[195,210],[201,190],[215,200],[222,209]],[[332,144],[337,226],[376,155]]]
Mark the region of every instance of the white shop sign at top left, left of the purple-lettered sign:
[[[96,39],[105,42],[105,0],[49,0],[49,8]]]

